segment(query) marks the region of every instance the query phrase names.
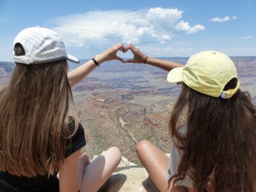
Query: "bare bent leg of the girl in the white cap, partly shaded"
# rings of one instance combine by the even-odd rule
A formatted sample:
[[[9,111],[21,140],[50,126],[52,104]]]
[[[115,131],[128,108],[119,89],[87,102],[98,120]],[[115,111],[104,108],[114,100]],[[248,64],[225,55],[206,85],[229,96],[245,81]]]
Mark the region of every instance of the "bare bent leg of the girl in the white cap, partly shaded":
[[[122,154],[117,147],[111,147],[102,152],[100,156],[85,167],[79,191],[98,191],[115,171],[120,163],[121,157]]]

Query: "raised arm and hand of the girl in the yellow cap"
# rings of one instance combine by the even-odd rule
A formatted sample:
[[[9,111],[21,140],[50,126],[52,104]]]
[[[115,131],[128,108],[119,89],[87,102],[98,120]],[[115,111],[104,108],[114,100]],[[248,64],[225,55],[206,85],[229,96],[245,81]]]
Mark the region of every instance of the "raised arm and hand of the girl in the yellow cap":
[[[134,54],[134,58],[132,60],[126,60],[125,63],[145,63],[148,65],[152,65],[154,67],[162,68],[163,70],[167,70],[167,71],[170,71],[175,67],[184,67],[184,65],[180,63],[176,63],[174,61],[161,60],[161,59],[145,56],[145,54],[140,52],[139,49],[137,49],[133,45],[128,45],[127,47],[125,47],[125,51],[129,49]]]

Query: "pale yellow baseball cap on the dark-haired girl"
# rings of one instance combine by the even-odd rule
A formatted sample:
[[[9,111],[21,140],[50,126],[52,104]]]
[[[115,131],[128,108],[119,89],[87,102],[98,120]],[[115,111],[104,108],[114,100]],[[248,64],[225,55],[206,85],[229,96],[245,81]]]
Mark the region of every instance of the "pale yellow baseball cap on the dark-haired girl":
[[[223,91],[233,78],[237,78],[236,67],[227,55],[217,51],[203,51],[191,56],[184,67],[173,68],[167,81],[184,82],[197,92],[228,99],[237,92],[240,84],[237,81],[236,88]]]

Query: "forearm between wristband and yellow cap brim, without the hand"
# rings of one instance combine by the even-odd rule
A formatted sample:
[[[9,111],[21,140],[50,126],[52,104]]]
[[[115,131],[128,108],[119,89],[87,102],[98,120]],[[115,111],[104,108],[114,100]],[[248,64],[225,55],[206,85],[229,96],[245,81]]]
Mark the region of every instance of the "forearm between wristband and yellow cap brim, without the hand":
[[[152,57],[147,58],[146,64],[152,65],[154,67],[162,68],[163,70],[166,70],[168,72],[176,67],[184,67],[184,65],[182,65],[180,63],[176,63],[174,61],[161,60],[161,59],[152,58]]]

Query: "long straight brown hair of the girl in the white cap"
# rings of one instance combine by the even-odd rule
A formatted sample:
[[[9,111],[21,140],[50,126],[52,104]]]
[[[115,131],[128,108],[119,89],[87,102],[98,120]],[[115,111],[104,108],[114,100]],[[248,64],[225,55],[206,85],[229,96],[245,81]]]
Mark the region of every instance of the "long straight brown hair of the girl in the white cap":
[[[22,45],[16,55],[24,55]],[[65,159],[67,141],[77,130],[66,60],[17,63],[0,97],[0,170],[12,175],[54,174]],[[70,132],[69,106],[75,129]]]

